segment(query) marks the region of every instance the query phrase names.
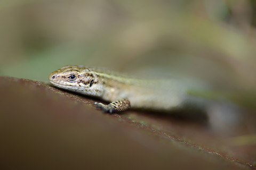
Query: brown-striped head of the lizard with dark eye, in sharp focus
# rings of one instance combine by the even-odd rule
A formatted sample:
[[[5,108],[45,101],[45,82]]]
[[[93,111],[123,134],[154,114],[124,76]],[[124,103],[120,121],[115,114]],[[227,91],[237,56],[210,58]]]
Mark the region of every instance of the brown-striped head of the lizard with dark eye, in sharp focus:
[[[89,96],[100,97],[103,92],[97,75],[81,65],[63,66],[49,75],[49,81],[55,87]]]

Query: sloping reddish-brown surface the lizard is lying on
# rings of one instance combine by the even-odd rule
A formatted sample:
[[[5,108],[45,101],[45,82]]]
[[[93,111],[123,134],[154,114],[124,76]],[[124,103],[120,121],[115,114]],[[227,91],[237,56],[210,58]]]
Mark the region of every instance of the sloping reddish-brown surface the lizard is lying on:
[[[0,77],[1,169],[252,169],[255,146],[230,146],[198,121],[104,114],[43,82]]]

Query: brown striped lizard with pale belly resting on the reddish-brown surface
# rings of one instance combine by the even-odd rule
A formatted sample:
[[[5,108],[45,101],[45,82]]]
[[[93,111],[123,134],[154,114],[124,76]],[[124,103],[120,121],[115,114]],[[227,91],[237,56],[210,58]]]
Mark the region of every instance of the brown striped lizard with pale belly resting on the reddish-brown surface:
[[[109,102],[95,102],[103,112],[129,108],[171,112],[179,109],[203,110],[206,103],[189,95],[193,83],[172,79],[139,79],[98,67],[67,65],[49,75],[53,86]]]

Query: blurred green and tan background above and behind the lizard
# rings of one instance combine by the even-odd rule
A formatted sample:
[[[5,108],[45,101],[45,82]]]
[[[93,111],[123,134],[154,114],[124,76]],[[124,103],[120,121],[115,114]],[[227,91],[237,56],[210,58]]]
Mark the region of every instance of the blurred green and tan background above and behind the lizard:
[[[47,81],[79,64],[251,92],[255,8],[252,0],[3,0],[0,75]]]

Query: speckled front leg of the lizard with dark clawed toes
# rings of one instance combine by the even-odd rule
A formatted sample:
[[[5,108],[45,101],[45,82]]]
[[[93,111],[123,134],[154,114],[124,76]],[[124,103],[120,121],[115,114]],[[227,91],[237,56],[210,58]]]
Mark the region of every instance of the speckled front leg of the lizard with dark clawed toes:
[[[124,98],[122,98],[120,100],[113,101],[108,105],[104,105],[102,103],[95,102],[94,106],[96,108],[100,108],[103,112],[107,112],[107,113],[122,112],[131,107],[130,101],[128,99],[124,99]]]

